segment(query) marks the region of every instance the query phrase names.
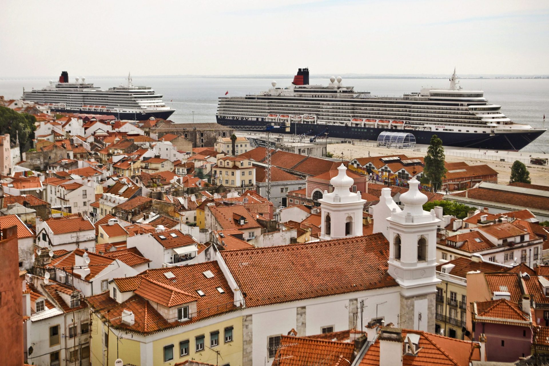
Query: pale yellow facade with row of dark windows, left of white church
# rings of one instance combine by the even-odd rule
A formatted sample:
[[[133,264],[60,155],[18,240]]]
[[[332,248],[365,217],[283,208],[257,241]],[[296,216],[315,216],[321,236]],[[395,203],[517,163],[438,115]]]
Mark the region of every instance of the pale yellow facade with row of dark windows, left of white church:
[[[98,331],[92,334],[90,344],[92,365],[114,366],[117,358],[124,364],[136,366],[173,366],[187,360],[242,365],[242,317],[236,314],[204,319],[149,335],[108,328],[96,314],[92,319],[94,328],[98,324]],[[108,347],[105,346],[107,343]]]

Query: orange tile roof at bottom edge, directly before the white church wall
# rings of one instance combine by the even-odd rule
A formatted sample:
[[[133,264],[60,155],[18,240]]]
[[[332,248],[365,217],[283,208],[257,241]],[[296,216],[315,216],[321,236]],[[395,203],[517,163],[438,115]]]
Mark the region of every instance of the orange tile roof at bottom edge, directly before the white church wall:
[[[283,335],[272,366],[335,366],[351,360],[355,344]]]

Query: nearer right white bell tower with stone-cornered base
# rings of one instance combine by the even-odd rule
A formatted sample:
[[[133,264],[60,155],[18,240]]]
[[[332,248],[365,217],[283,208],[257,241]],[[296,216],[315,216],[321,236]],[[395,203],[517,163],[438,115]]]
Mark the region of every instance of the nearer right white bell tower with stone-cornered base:
[[[412,179],[408,192],[401,194],[404,209],[393,207],[386,218],[389,241],[389,274],[401,287],[399,327],[434,332],[436,284],[435,212],[423,210],[427,196]],[[374,216],[374,222],[382,219]]]

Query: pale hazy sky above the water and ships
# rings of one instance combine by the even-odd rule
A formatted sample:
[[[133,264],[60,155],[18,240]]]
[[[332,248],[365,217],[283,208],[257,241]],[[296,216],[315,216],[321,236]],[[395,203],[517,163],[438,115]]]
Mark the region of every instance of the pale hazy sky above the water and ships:
[[[547,1],[1,3],[0,76],[549,74]]]

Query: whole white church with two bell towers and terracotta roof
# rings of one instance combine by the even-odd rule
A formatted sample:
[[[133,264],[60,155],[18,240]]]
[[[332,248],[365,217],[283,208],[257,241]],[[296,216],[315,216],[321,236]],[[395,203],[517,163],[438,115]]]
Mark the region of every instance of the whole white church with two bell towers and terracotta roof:
[[[366,331],[376,320],[434,332],[438,219],[422,209],[427,196],[410,181],[401,210],[384,188],[374,234],[363,237],[364,201],[351,192],[346,167],[338,170],[334,191],[319,200],[321,241],[243,251],[210,246],[193,260],[217,261],[234,286],[245,366],[271,364],[273,347],[292,329],[298,336]]]

